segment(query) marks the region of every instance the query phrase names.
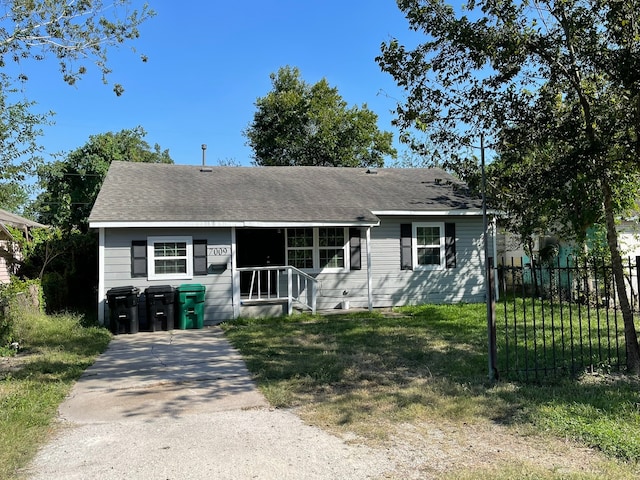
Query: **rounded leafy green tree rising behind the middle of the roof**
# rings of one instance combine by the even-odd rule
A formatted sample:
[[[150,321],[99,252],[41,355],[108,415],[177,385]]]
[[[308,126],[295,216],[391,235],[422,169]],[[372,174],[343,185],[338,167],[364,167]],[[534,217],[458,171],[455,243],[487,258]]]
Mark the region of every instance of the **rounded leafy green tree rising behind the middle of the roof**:
[[[347,103],[325,79],[309,85],[297,68],[271,74],[273,90],[256,101],[244,131],[258,165],[381,167],[395,158],[390,132],[378,130],[378,116]]]

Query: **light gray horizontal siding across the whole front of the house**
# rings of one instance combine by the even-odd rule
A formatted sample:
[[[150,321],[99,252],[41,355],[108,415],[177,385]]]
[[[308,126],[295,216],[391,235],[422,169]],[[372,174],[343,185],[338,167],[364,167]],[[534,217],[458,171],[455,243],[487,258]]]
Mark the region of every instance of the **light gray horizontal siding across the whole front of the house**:
[[[401,270],[400,225],[419,222],[451,222],[456,225],[456,267],[442,270]],[[379,227],[371,229],[371,275],[374,307],[394,307],[420,303],[457,303],[484,301],[482,274],[482,218],[420,217],[381,219]],[[104,250],[104,295],[113,287],[133,285],[141,291],[151,285],[177,287],[183,283],[198,283],[206,287],[204,322],[207,325],[233,318],[233,278],[231,258],[226,270],[194,276],[191,280],[167,282],[131,277],[131,242],[148,236],[188,235],[194,240],[206,239],[209,246],[231,246],[231,229],[107,229]],[[493,245],[489,246],[490,255]],[[341,308],[344,300],[351,307],[368,305],[366,234],[361,235],[360,270],[319,273],[318,301],[320,310]],[[214,262],[215,263],[215,262]],[[106,302],[105,302],[106,303]],[[105,319],[108,318],[108,312]]]

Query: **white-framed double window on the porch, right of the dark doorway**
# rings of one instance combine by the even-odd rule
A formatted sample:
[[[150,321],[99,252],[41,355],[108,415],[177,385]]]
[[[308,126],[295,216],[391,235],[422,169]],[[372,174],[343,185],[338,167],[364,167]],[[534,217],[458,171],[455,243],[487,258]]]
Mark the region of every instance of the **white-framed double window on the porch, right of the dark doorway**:
[[[344,227],[289,228],[287,263],[301,270],[343,270],[348,245]]]

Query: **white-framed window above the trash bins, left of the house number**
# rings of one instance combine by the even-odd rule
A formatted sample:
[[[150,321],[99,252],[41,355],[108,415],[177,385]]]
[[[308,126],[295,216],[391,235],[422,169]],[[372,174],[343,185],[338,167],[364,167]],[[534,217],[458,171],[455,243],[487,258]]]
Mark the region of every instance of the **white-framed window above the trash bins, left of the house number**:
[[[191,237],[147,238],[147,270],[149,280],[192,278]]]

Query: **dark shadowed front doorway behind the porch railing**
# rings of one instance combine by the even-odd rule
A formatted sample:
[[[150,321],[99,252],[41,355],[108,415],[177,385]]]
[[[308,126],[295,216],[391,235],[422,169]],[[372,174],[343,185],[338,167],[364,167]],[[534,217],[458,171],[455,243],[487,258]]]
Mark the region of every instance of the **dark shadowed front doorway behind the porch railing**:
[[[239,228],[236,230],[236,245],[238,267],[265,267],[269,265],[285,264],[285,237],[283,228]],[[271,282],[271,289],[275,292],[275,272]],[[266,293],[269,282],[266,272],[263,272],[260,285]],[[240,275],[240,293],[249,293],[251,287],[251,272]]]

